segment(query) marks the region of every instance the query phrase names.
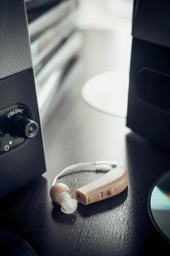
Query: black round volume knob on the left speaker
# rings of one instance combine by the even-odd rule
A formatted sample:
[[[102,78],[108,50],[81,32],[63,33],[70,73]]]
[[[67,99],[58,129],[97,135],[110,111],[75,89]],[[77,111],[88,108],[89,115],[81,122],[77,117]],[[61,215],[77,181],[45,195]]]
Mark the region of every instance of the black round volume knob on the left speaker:
[[[9,121],[8,130],[9,134],[14,138],[33,139],[37,136],[38,125],[26,117],[15,115]]]

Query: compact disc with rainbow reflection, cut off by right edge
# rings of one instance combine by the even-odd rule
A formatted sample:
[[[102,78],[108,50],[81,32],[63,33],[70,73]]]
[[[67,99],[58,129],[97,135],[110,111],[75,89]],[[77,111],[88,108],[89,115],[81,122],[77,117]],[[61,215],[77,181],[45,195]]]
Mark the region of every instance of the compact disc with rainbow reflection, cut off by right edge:
[[[162,175],[150,190],[148,209],[156,229],[170,242],[170,171]]]

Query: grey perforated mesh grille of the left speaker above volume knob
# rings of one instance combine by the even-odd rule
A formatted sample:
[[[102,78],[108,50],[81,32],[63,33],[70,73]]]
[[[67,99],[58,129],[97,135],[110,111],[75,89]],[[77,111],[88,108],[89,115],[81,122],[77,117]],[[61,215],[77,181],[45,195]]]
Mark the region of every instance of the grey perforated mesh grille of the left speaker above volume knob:
[[[0,79],[33,67],[24,0],[0,0]]]

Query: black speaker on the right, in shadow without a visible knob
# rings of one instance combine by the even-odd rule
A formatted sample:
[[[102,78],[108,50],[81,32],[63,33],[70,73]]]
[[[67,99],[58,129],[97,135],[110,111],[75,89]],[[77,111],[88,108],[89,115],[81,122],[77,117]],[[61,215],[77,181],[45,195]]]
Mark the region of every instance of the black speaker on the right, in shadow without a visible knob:
[[[135,0],[127,126],[170,148],[170,1]]]

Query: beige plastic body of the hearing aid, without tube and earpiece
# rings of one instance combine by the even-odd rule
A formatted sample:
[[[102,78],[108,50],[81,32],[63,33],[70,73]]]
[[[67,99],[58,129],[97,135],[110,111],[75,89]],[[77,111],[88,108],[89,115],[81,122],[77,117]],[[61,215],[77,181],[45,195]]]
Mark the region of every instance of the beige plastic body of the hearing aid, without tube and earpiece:
[[[99,179],[76,189],[75,197],[84,205],[92,204],[121,193],[127,187],[127,183],[127,171],[116,167]]]

